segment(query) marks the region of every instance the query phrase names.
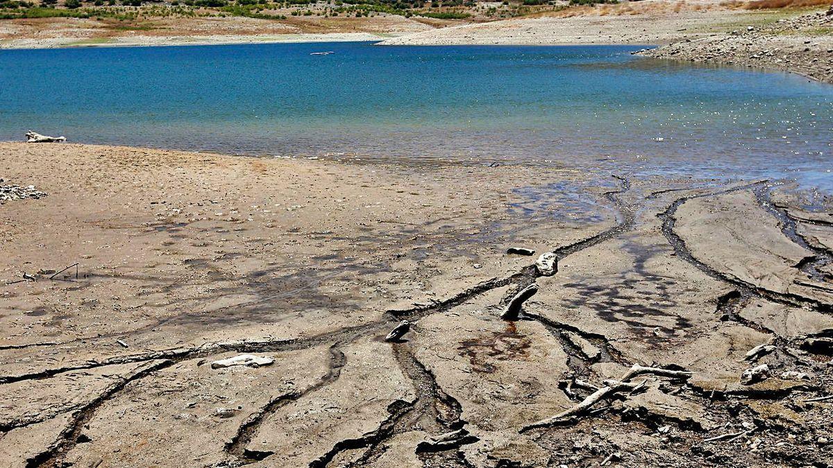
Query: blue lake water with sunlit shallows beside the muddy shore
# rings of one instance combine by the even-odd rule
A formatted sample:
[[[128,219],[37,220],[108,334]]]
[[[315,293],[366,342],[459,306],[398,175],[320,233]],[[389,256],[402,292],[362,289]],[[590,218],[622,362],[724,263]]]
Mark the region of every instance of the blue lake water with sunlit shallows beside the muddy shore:
[[[833,190],[833,86],[641,47],[369,42],[0,51],[0,140],[796,177]],[[310,55],[332,51],[331,55]]]

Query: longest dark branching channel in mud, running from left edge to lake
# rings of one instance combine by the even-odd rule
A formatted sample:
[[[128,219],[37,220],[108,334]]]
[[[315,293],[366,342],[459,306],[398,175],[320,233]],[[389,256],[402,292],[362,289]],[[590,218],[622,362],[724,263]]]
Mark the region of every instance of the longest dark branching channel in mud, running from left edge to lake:
[[[626,207],[618,197],[622,193],[628,191],[631,184],[623,177],[614,177],[621,182],[621,189],[618,191],[606,192],[604,195],[616,208],[618,218],[616,226],[594,236],[590,236],[584,240],[577,241],[571,245],[562,246],[556,249],[556,255],[559,257],[569,256],[576,251],[581,251],[590,246],[595,246],[601,241],[606,241],[611,237],[616,236],[621,232],[626,232],[633,227],[635,212]],[[389,316],[392,316],[392,319],[407,318],[409,320],[418,320],[421,317],[436,313],[438,311],[449,310],[466,301],[470,301],[476,296],[481,296],[482,294],[501,286],[506,286],[511,283],[520,283],[521,287],[523,287],[527,284],[531,284],[531,282],[534,282],[536,276],[538,276],[538,273],[535,266],[526,266],[523,270],[512,276],[508,276],[506,278],[495,278],[491,281],[486,281],[466,291],[462,291],[460,294],[453,296],[446,301],[436,302],[430,306],[416,307],[407,311],[388,311],[388,314]],[[81,436],[82,428],[87,425],[88,421],[92,420],[97,409],[116,396],[119,391],[122,391],[132,381],[140,380],[145,376],[151,375],[155,371],[160,371],[176,364],[177,362],[197,357],[212,356],[226,351],[297,351],[327,343],[348,343],[354,341],[359,336],[380,332],[391,327],[395,324],[395,321],[392,319],[374,321],[361,326],[354,326],[347,329],[323,333],[318,336],[311,336],[304,339],[218,343],[212,346],[158,351],[138,356],[116,356],[104,361],[88,361],[77,366],[47,369],[20,376],[0,376],[0,385],[17,381],[47,379],[67,371],[93,369],[117,364],[160,361],[152,366],[148,366],[142,371],[137,372],[133,376],[127,377],[120,385],[114,386],[111,390],[102,393],[102,395],[98,396],[96,400],[92,401],[92,403],[85,406],[80,411],[77,411],[77,416],[73,418],[72,424],[62,432],[59,440],[56,441],[52,448],[42,452],[40,455],[30,460],[27,465],[60,466],[62,463],[62,457],[71,451],[74,446],[76,446],[78,438]],[[540,317],[536,320],[540,320]],[[550,325],[551,330],[556,330],[556,328],[558,328],[557,326],[556,328],[552,328],[552,324]],[[340,369],[344,364],[344,357],[341,351],[335,347],[336,345],[333,346],[334,347],[331,348],[331,368],[327,376],[324,376],[322,381],[319,381],[316,385],[305,391],[277,396],[275,399],[270,401],[270,403],[267,404],[262,411],[259,411],[257,414],[251,416],[250,419],[243,423],[241,428],[238,430],[237,436],[235,436],[234,440],[226,447],[228,453],[240,458],[240,461],[243,464],[252,461],[265,460],[268,456],[272,455],[268,452],[248,451],[246,448],[248,441],[251,441],[251,438],[256,433],[257,428],[269,414],[277,411],[277,409],[287,403],[295,401],[303,395],[306,395],[311,391],[316,391],[318,388],[329,385],[338,379]],[[367,448],[368,450],[363,457],[367,457],[368,460],[371,460],[382,453],[381,451],[383,449],[380,448],[382,442],[397,434],[397,431],[403,431],[402,428],[407,427],[408,421],[429,421],[433,419],[434,424],[432,429],[434,431],[455,431],[465,425],[465,422],[461,421],[459,417],[461,413],[459,404],[456,403],[453,398],[441,392],[441,390],[436,386],[436,381],[434,381],[433,377],[430,376],[430,372],[426,371],[425,367],[421,366],[421,363],[413,358],[410,351],[402,351],[401,349],[400,351],[396,351],[396,349],[397,348],[395,346],[397,361],[400,361],[403,371],[412,379],[412,381],[415,382],[415,386],[420,388],[420,390],[417,391],[416,402],[414,404],[407,404],[403,401],[395,402],[388,409],[390,416],[386,419],[386,421],[382,422],[382,425],[379,426],[377,431],[373,431],[372,433],[357,439],[339,442],[337,446],[334,446],[331,451],[327,452],[327,454],[322,456],[322,458],[318,461],[313,462],[311,466],[327,466],[329,461],[332,461],[333,457],[337,456],[338,453],[357,448]],[[603,350],[601,351],[602,355],[600,359],[612,359],[613,353],[611,353],[611,348],[609,346],[601,346],[600,349]],[[413,418],[416,419],[414,420]],[[463,443],[471,443],[471,441],[471,438],[464,438],[461,440],[460,445]],[[449,455],[447,453],[456,449],[457,446],[458,445],[456,443],[452,443],[450,448],[446,451],[425,451],[425,453],[421,456],[426,459],[439,457],[437,458],[437,461],[446,460],[447,466],[466,466],[467,462],[464,458],[460,458],[461,454],[455,453],[453,455]],[[441,455],[431,455],[433,453]]]

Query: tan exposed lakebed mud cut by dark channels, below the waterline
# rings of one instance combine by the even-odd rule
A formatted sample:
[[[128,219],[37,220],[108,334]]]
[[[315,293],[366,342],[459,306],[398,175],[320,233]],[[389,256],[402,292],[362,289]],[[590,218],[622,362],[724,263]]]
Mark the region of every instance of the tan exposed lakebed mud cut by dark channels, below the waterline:
[[[0,156],[49,193],[0,207],[0,466],[833,464],[833,401],[807,401],[833,393],[833,217],[796,187]],[[508,246],[555,251],[559,270]],[[210,366],[244,352],[275,361]],[[634,364],[658,371],[535,426]],[[741,384],[761,364],[769,378]]]

